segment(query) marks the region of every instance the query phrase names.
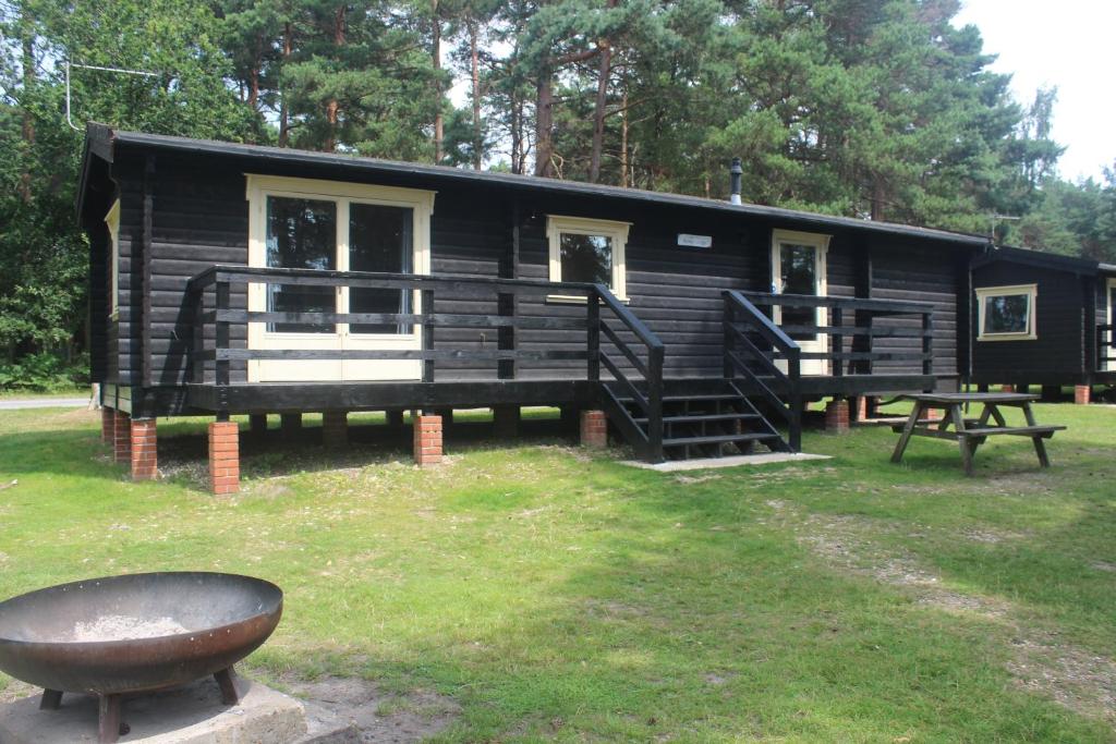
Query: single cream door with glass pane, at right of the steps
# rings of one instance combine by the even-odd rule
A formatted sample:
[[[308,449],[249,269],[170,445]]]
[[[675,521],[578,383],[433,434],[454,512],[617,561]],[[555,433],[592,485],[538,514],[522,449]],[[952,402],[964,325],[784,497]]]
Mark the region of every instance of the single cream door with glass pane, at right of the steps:
[[[771,238],[771,288],[776,294],[807,294],[826,297],[826,252],[829,235],[776,230]],[[775,306],[777,326],[791,326],[799,330],[788,332],[802,347],[804,354],[825,354],[829,338],[809,330],[829,322],[826,308],[791,308]],[[780,365],[786,369],[786,365]],[[804,375],[828,375],[825,359],[802,359]]]

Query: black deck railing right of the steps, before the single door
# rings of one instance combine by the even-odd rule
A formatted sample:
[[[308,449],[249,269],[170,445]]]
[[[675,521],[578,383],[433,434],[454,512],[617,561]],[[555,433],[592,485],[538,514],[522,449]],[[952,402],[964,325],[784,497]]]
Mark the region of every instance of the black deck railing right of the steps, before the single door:
[[[824,351],[801,351],[799,358],[827,363],[826,374],[834,377],[845,375],[870,375],[875,363],[913,363],[922,374],[934,374],[934,306],[930,302],[901,300],[875,300],[860,298],[815,297],[809,294],[772,294],[768,292],[741,292],[751,302],[766,309],[771,317],[775,307],[802,310],[825,308],[826,322],[779,323],[779,328],[791,338],[804,335],[826,338]],[[901,319],[903,323],[876,323],[877,318]],[[910,339],[899,341],[915,348],[879,350],[876,339]],[[775,354],[778,358],[778,352]]]

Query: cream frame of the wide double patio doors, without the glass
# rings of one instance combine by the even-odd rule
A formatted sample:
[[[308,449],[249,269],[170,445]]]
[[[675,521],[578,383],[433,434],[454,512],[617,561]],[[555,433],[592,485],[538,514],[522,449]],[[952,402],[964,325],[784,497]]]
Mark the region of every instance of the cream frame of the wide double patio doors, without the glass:
[[[412,241],[414,250],[414,265],[412,273],[430,273],[430,233],[431,218],[434,213],[434,196],[436,192],[423,191],[419,189],[403,189],[397,186],[381,186],[375,184],[346,183],[341,181],[323,181],[317,178],[297,178],[291,176],[271,176],[254,173],[246,173],[248,200],[248,265],[267,265],[267,200],[269,196],[290,199],[312,199],[319,201],[334,202],[337,205],[337,235],[334,242],[336,255],[336,270],[349,270],[349,204],[382,204],[386,206],[401,206],[412,210]],[[264,310],[267,307],[267,284],[248,284],[248,307],[250,310]],[[347,306],[348,288],[338,288],[338,301]],[[422,312],[422,297],[419,290],[414,291],[412,307],[415,313]],[[270,331],[264,323],[248,325],[248,348],[250,349],[333,349],[333,348],[405,348],[419,349],[422,346],[422,326],[412,323],[411,334],[352,334],[346,323],[337,323],[334,334],[300,334],[286,331]],[[270,367],[287,365],[297,366],[295,363],[281,360]],[[311,365],[304,364],[308,369]],[[325,365],[319,365],[325,366]],[[343,379],[364,379],[365,377],[350,374],[355,367],[372,367],[374,365],[358,363],[343,363],[340,377]],[[379,367],[387,368],[386,363]],[[388,375],[392,379],[410,379],[415,376],[421,367],[419,361],[392,363],[393,368],[406,370]],[[413,369],[412,369],[413,368]],[[270,376],[268,363],[266,360],[252,360],[248,365],[249,381],[263,381]],[[386,374],[386,373],[385,373]],[[325,375],[324,375],[325,377]],[[308,377],[314,379],[314,377]]]

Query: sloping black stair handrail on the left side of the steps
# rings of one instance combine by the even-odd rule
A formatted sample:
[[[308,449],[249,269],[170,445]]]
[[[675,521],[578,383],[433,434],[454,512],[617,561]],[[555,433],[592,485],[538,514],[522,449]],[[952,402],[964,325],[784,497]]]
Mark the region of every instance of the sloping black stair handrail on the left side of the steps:
[[[600,306],[613,311],[617,320],[626,327],[646,347],[647,364],[644,367],[638,363],[635,352],[600,319]],[[662,462],[663,455],[663,363],[666,357],[666,345],[662,339],[625,305],[619,298],[613,294],[605,284],[594,284],[588,296],[588,320],[589,320],[589,379],[600,380],[600,331],[604,328],[609,340],[624,354],[638,369],[647,385],[647,395],[644,398],[638,389],[624,371],[615,364],[605,358],[605,364],[613,377],[626,385],[633,393],[636,405],[646,414],[647,431],[644,443],[645,456],[651,462]],[[607,389],[607,388],[606,388]],[[606,394],[607,395],[607,394]],[[619,413],[619,412],[617,412]]]

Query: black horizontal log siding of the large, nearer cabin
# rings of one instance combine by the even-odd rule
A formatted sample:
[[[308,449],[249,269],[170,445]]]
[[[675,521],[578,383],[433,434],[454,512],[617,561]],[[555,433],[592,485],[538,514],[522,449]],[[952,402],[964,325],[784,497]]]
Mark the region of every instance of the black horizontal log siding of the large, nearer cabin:
[[[177,386],[187,379],[185,358],[190,341],[190,308],[185,286],[190,277],[214,263],[247,263],[248,206],[244,173],[273,173],[328,177],[325,172],[268,171],[258,164],[231,158],[182,157],[158,154],[148,174],[151,190],[151,262],[147,278],[147,316],[151,357],[145,367],[138,356],[143,336],[138,316],[144,309],[142,245],[144,244],[144,167],[136,154],[117,153],[113,176],[122,193],[121,318],[107,323],[106,379],[122,385]],[[422,178],[425,178],[423,181]],[[384,177],[385,185],[437,192],[432,222],[432,271],[435,274],[501,276],[509,263],[513,210],[521,215],[519,272],[521,278],[548,276],[547,214],[619,220],[633,223],[627,243],[627,292],[631,309],[667,345],[666,374],[671,377],[720,376],[721,291],[770,288],[770,238],[775,228],[801,229],[758,218],[712,213],[695,207],[624,204],[598,197],[531,196],[518,203],[497,186],[432,182],[429,176]],[[709,234],[711,249],[676,245],[677,233]],[[864,283],[870,257],[874,282]],[[835,297],[872,296],[884,299],[932,301],[937,306],[934,339],[935,373],[956,373],[956,297],[959,261],[968,253],[947,243],[914,238],[883,242],[855,230],[836,232],[828,253],[829,293]],[[233,307],[244,307],[242,288],[234,288]],[[435,296],[439,312],[497,313],[497,298],[464,299]],[[584,305],[545,302],[523,298],[517,312],[527,316],[584,316]],[[852,318],[847,321],[852,322]],[[879,321],[914,323],[912,320]],[[210,330],[210,336],[212,332]],[[244,328],[233,327],[233,345],[246,344]],[[584,348],[580,331],[520,331],[520,348]],[[496,330],[439,328],[437,348],[496,348]],[[915,339],[879,339],[876,348],[918,350]],[[494,363],[458,363],[437,366],[436,379],[496,377]],[[877,371],[918,373],[921,364],[879,363]],[[521,363],[520,378],[584,375],[584,363]],[[246,378],[244,366],[232,369],[234,381]]]

